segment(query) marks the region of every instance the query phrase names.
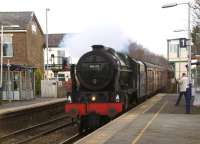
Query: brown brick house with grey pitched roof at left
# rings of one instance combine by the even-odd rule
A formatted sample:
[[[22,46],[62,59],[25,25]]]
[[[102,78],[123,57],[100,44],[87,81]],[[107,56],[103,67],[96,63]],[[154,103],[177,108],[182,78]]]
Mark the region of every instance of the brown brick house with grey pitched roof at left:
[[[33,98],[35,71],[43,70],[44,38],[40,24],[34,12],[0,12],[0,25],[5,26],[0,96],[15,100]]]

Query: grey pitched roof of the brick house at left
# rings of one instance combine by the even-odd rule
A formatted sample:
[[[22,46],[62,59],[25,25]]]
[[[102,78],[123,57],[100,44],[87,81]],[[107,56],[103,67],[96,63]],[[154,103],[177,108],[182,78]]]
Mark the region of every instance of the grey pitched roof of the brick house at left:
[[[41,32],[42,29],[39,25],[39,22],[32,11],[26,12],[0,12],[0,25],[19,25],[19,27],[11,28],[8,27],[6,30],[26,30],[29,22],[35,18]],[[43,33],[43,32],[42,32]]]

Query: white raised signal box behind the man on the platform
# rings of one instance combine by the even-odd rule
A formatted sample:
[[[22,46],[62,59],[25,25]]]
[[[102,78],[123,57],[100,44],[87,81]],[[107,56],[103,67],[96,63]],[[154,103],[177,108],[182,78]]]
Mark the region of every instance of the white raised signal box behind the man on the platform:
[[[182,73],[187,73],[188,51],[185,38],[167,40],[167,59],[174,68],[175,77],[179,79]],[[181,46],[182,45],[182,46]]]

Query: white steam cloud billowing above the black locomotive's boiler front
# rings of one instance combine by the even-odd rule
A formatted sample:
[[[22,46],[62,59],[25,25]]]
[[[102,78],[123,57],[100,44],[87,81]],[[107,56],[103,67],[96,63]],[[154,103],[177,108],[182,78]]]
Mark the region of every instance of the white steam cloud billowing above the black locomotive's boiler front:
[[[120,27],[115,25],[90,27],[79,34],[66,35],[62,41],[62,47],[66,48],[67,56],[71,57],[72,63],[77,63],[78,59],[91,51],[91,46],[96,44],[127,52],[129,42]]]

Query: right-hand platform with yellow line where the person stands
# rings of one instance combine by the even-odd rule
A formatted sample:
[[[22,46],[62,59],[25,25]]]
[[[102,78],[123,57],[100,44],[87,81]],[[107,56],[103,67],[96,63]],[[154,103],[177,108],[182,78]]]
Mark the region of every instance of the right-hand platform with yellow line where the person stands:
[[[175,106],[176,94],[157,94],[76,144],[199,144],[200,108],[185,101]]]

